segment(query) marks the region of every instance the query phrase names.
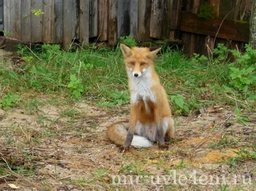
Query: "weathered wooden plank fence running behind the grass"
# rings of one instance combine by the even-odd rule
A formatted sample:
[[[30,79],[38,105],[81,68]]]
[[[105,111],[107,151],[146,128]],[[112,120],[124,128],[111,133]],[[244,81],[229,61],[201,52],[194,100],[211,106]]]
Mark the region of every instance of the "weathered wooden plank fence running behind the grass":
[[[186,54],[206,54],[217,43],[238,48],[248,43],[252,1],[4,0],[4,32],[24,43],[64,48],[74,39],[116,45],[130,34],[137,41],[180,39]],[[202,6],[213,10],[214,18],[198,17]],[[37,17],[31,10],[39,9],[43,14]]]

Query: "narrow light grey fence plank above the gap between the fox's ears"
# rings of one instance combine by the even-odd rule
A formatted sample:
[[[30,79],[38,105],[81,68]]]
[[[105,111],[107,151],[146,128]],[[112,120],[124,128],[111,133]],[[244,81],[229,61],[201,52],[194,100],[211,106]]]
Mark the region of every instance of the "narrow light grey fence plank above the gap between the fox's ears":
[[[138,38],[138,1],[139,0],[131,0],[131,8],[130,8],[130,34],[133,39]]]

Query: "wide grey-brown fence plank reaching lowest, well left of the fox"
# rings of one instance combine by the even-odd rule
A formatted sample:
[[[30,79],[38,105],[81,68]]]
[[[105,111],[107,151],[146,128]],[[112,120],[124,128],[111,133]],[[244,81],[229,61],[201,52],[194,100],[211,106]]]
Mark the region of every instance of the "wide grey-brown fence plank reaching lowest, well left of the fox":
[[[63,47],[68,48],[77,37],[78,16],[77,1],[63,0]]]

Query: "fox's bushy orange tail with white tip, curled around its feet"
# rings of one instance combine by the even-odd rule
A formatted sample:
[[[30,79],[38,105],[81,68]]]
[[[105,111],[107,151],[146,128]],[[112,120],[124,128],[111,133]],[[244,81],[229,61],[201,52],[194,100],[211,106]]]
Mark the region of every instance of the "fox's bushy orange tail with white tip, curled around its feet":
[[[114,123],[107,128],[107,138],[109,138],[114,144],[123,145],[127,136],[128,129],[129,123],[127,122]],[[139,147],[150,147],[152,146],[152,143],[145,137],[134,135],[131,145]]]

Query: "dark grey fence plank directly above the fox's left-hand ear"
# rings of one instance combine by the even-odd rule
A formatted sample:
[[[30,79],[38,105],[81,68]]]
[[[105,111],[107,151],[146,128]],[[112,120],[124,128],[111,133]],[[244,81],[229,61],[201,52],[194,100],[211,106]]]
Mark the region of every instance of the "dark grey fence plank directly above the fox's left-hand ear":
[[[130,1],[118,0],[117,8],[117,37],[129,36],[130,34]]]

